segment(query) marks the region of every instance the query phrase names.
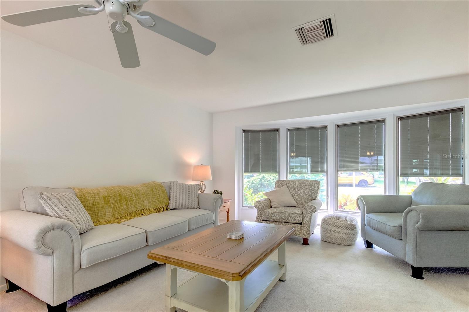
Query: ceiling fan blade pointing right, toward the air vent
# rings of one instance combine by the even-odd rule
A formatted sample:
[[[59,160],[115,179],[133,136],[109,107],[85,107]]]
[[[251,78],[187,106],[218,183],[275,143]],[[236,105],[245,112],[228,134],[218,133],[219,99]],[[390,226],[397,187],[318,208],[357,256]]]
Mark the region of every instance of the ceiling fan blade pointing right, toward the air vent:
[[[194,34],[193,32],[172,22],[166,21],[164,18],[154,15],[151,12],[143,11],[139,12],[138,15],[151,16],[151,18],[155,20],[155,24],[153,26],[146,26],[143,22],[137,20],[142,27],[174,40],[181,45],[185,45],[204,55],[209,55],[213,50],[215,50],[216,44],[213,41]]]

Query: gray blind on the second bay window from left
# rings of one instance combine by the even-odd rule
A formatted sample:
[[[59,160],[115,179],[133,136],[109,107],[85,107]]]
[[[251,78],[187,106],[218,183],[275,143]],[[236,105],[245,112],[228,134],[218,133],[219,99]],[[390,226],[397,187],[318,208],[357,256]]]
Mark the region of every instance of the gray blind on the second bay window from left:
[[[325,173],[327,127],[288,129],[288,173]]]

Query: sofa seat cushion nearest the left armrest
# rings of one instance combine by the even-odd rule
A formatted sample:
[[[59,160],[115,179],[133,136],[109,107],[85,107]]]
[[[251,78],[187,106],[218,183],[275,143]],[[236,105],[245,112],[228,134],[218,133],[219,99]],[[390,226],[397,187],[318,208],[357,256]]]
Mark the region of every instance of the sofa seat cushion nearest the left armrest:
[[[146,246],[145,231],[119,223],[95,226],[80,234],[81,267],[118,257]]]

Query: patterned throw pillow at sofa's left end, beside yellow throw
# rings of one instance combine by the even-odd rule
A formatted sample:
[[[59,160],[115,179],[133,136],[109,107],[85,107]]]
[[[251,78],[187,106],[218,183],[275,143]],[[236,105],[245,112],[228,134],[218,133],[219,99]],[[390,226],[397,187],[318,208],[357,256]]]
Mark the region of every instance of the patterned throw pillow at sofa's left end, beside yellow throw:
[[[93,228],[90,215],[74,194],[40,192],[38,197],[50,216],[70,221],[76,226],[78,233],[84,233]]]

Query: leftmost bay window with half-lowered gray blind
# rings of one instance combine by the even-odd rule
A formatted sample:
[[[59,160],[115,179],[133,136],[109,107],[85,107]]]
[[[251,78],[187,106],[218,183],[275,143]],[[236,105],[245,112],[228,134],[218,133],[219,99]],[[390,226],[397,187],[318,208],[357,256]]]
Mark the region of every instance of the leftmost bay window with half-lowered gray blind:
[[[253,206],[279,179],[279,130],[243,130],[243,206]]]

